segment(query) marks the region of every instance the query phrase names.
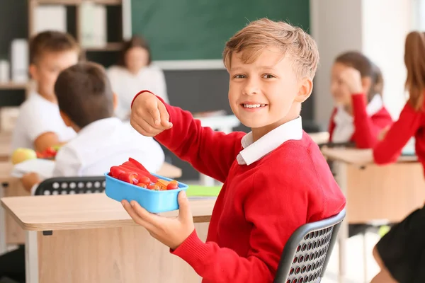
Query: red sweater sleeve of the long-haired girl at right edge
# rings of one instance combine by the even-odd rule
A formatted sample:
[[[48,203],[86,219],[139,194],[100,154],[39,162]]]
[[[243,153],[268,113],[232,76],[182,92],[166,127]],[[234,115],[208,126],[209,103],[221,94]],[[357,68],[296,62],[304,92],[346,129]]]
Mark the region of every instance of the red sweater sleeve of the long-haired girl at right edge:
[[[421,112],[415,111],[409,103],[406,103],[399,119],[388,130],[385,138],[373,149],[375,163],[385,164],[397,161],[407,141],[421,126],[421,121]]]

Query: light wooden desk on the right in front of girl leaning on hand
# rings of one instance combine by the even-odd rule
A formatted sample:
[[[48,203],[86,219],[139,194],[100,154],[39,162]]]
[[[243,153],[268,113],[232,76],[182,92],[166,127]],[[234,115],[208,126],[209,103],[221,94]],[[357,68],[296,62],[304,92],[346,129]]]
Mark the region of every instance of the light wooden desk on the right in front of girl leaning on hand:
[[[424,171],[416,156],[400,156],[397,163],[378,166],[371,149],[323,147],[322,154],[334,161],[336,180],[347,200],[339,231],[339,282],[344,282],[348,223],[397,222],[424,206]]]

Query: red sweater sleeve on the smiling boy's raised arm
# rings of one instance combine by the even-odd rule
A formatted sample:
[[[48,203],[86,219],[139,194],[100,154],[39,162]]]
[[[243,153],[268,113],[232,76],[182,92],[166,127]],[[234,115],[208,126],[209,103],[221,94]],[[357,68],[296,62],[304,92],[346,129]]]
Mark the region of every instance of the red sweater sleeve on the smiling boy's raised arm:
[[[210,127],[201,127],[200,120],[193,119],[191,112],[166,103],[164,105],[173,127],[154,138],[183,161],[191,163],[200,173],[224,183],[242,149],[241,139],[245,133],[215,132]]]

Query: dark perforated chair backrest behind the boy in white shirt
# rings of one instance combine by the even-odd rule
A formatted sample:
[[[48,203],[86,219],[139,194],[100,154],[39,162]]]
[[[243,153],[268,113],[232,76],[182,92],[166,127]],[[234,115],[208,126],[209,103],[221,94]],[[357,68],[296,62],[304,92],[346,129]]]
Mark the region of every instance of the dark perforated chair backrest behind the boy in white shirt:
[[[35,195],[74,195],[103,192],[105,176],[49,178],[35,190]]]

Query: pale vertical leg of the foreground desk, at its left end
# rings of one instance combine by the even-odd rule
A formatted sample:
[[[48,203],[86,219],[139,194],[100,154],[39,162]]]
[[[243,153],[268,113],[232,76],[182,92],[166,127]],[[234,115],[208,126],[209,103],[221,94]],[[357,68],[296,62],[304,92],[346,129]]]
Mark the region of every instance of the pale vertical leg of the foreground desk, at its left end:
[[[38,283],[38,241],[37,231],[25,231],[25,273],[26,283]]]

